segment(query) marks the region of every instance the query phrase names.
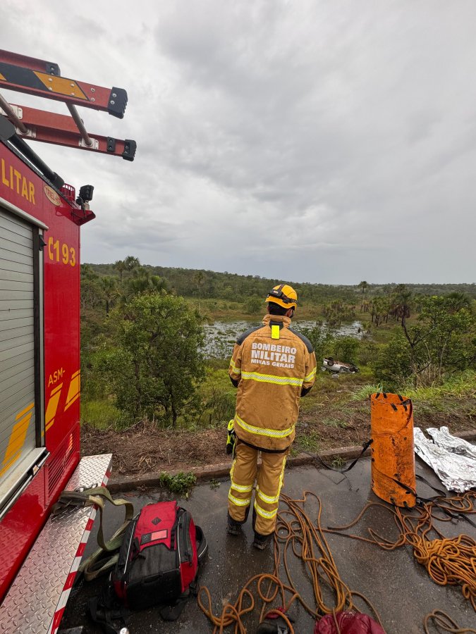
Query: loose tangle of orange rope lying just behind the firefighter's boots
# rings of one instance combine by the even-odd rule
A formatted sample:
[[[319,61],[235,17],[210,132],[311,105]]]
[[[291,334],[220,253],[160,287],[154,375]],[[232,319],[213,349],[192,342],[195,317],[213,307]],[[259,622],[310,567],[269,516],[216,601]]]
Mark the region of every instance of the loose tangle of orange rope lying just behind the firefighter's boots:
[[[319,505],[315,524],[312,523],[304,510],[307,497],[315,498]],[[323,614],[334,614],[335,619],[336,612],[343,609],[360,611],[353,603],[353,597],[360,597],[367,603],[382,625],[379,615],[370,601],[364,595],[361,595],[360,592],[350,590],[338,573],[334,557],[332,557],[331,549],[324,537],[324,531],[321,526],[322,504],[319,497],[315,493],[306,491],[302,499],[291,499],[287,495],[281,495],[281,502],[286,504],[287,508],[279,512],[276,523],[273,573],[264,573],[250,578],[240,590],[236,602],[234,604],[226,604],[219,616],[213,612],[212,596],[208,588],[205,586],[200,587],[197,602],[200,609],[214,625],[213,633],[222,634],[225,628],[234,624],[235,634],[246,634],[247,630],[243,624],[243,617],[246,614],[250,614],[255,609],[256,604],[255,595],[252,591],[253,586],[255,586],[257,599],[262,602],[259,622],[264,621],[269,614],[279,614],[291,634],[294,634],[295,630],[285,612],[289,610],[296,600],[316,619]],[[288,551],[290,549],[295,557],[303,561],[303,564],[307,567],[312,580],[314,606],[308,604],[295,588],[288,565]],[[279,578],[281,566],[286,571],[286,583]],[[266,589],[263,588],[265,582],[267,582]],[[322,595],[322,584],[333,591],[334,601],[332,604],[325,602]],[[205,595],[206,603],[202,600],[202,595]],[[271,604],[276,601],[277,597],[279,597],[279,603],[285,612],[278,612],[276,609],[271,608]]]

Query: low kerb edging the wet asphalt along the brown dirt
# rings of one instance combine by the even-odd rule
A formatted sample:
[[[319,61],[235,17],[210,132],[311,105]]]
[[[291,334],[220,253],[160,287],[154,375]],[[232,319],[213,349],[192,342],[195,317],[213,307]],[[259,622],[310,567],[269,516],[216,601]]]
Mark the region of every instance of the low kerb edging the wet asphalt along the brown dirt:
[[[467,440],[468,442],[476,440],[476,430],[463,431],[454,435],[458,438],[463,438],[463,440]],[[344,461],[348,461],[357,458],[360,455],[360,452],[362,452],[362,446],[357,445],[353,447],[336,447],[335,449],[326,449],[316,455],[302,453],[293,458],[288,458],[286,466],[291,468],[305,466],[307,464],[315,463],[318,459],[328,462],[332,459],[336,459],[337,457],[343,459]],[[370,449],[367,449],[363,455],[369,456]],[[206,482],[207,480],[226,478],[230,473],[230,467],[231,460],[228,462],[221,462],[219,464],[192,467],[188,473],[190,473],[190,471],[194,473],[197,478],[197,482]],[[147,473],[145,475],[123,475],[121,478],[114,478],[113,476],[111,480],[109,480],[107,487],[111,493],[133,491],[142,487],[160,487],[160,475],[161,473],[164,473],[164,471],[165,469],[154,473]],[[183,469],[171,469],[171,471],[166,471],[166,473],[169,475],[176,475],[177,473],[180,473],[180,471],[183,471]]]

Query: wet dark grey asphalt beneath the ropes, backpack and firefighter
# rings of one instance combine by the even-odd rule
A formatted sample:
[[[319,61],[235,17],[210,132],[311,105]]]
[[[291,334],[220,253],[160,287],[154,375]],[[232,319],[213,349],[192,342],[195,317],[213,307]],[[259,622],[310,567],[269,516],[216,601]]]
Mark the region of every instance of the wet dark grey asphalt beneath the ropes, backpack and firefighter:
[[[432,471],[420,459],[416,459],[417,473],[436,487],[442,487]],[[245,525],[243,535],[226,535],[226,507],[229,480],[219,481],[219,487],[209,484],[195,487],[189,499],[179,503],[192,514],[195,523],[202,526],[207,536],[209,550],[200,573],[200,584],[206,585],[211,594],[215,614],[221,614],[226,602],[235,602],[240,589],[255,574],[271,572],[273,553],[269,548],[260,552],[252,547],[251,521]],[[418,494],[431,497],[434,492],[418,483]],[[335,473],[313,466],[286,470],[283,492],[300,498],[304,490],[317,493],[322,499],[322,526],[338,526],[349,523],[367,502],[379,501],[370,490],[370,460],[362,459],[346,474]],[[116,495],[115,497],[121,497]],[[138,511],[144,504],[171,499],[168,492],[157,489],[123,495],[130,499]],[[311,518],[317,516],[317,504],[310,503],[306,510]],[[109,535],[122,521],[121,509],[106,509],[104,532]],[[474,517],[474,516],[473,516]],[[97,523],[92,530],[85,556],[94,550]],[[446,537],[465,533],[476,538],[476,528],[465,521],[437,522],[436,526]],[[362,518],[358,527],[349,532],[365,535],[368,527],[382,536],[395,539],[396,526],[391,515],[382,508],[371,509]],[[387,634],[423,633],[423,618],[434,609],[446,611],[461,628],[476,627],[476,616],[469,601],[461,594],[459,586],[439,586],[430,580],[425,568],[417,564],[410,547],[385,551],[375,545],[350,540],[341,535],[327,535],[341,578],[351,590],[362,592],[377,608]],[[303,566],[291,558],[291,576],[303,597],[312,602],[310,580]],[[285,579],[282,576],[283,580]],[[83,626],[84,634],[99,634],[102,629],[87,616],[87,599],[98,595],[105,579],[81,583],[73,588],[68,601],[61,628]],[[331,595],[324,588],[327,603]],[[362,606],[359,599],[356,603]],[[261,607],[261,605],[260,605]],[[369,611],[367,611],[371,614]],[[257,628],[259,611],[244,619],[249,634]],[[297,602],[290,611],[295,619],[296,634],[312,634],[314,622]],[[372,615],[371,615],[372,616]],[[163,621],[157,608],[141,611],[128,620],[130,634],[206,634],[212,633],[212,624],[200,611],[194,599],[185,607],[180,619]],[[232,632],[233,628],[227,628]],[[435,633],[439,630],[430,630]]]

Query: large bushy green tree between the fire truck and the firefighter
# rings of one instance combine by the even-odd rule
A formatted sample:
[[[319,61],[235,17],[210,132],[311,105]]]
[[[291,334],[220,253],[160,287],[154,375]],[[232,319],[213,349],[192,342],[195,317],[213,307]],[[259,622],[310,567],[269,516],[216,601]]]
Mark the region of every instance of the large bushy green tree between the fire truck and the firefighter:
[[[128,304],[116,348],[98,354],[97,369],[108,375],[121,409],[175,427],[205,376],[203,342],[201,318],[183,297],[140,295]]]

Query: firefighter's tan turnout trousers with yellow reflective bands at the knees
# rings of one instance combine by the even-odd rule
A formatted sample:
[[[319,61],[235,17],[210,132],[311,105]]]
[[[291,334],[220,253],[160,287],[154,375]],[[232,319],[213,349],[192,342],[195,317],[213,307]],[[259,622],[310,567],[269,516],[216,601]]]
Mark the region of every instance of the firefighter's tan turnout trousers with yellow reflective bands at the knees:
[[[261,453],[258,468],[259,449],[244,445],[237,438],[235,457],[231,465],[231,486],[228,493],[228,513],[236,522],[245,522],[250,511],[253,487],[256,483],[255,511],[253,527],[260,535],[274,533],[279,493],[283,486],[284,467],[288,450],[280,454]]]

